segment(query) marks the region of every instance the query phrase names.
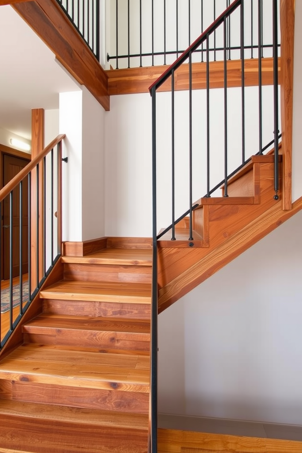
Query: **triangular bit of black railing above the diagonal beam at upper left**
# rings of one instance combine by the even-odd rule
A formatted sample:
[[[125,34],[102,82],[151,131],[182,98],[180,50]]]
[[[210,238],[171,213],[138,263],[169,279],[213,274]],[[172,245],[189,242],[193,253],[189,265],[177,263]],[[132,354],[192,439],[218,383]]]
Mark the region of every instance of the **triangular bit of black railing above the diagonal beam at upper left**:
[[[57,0],[57,2],[100,61],[100,0]]]

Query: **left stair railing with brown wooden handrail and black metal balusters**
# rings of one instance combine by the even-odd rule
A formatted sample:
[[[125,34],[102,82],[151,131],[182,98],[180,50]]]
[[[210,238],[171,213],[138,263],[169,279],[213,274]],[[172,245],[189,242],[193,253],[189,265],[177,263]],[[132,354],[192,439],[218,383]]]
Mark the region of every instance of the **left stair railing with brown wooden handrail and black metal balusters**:
[[[58,135],[0,190],[0,255],[9,244],[10,275],[7,289],[1,282],[0,349],[61,255],[64,137]]]

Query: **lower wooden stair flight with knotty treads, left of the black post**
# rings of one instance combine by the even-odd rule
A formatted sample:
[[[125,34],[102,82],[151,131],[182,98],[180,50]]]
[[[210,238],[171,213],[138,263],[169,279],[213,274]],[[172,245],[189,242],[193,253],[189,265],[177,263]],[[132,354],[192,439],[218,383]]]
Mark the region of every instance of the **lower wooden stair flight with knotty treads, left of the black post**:
[[[145,453],[151,245],[62,261],[64,279],[40,292],[43,312],[0,362],[0,447]]]

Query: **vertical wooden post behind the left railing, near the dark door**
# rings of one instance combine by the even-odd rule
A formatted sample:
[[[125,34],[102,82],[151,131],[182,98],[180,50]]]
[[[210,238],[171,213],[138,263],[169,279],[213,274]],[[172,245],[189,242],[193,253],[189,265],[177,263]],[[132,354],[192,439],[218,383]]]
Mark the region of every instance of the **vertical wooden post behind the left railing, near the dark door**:
[[[32,110],[32,154],[34,159],[44,148],[44,109]],[[39,244],[37,244],[37,173],[32,171],[31,179],[31,289],[37,286],[43,272],[43,163],[39,164]],[[37,278],[37,247],[39,251],[39,272]]]

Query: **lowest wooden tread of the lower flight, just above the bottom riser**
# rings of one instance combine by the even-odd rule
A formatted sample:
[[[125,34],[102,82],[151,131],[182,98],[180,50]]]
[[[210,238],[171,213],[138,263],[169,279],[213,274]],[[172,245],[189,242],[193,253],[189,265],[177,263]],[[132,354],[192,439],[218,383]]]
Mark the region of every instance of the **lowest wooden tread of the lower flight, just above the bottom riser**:
[[[0,400],[0,414],[93,426],[148,430],[148,414]]]

